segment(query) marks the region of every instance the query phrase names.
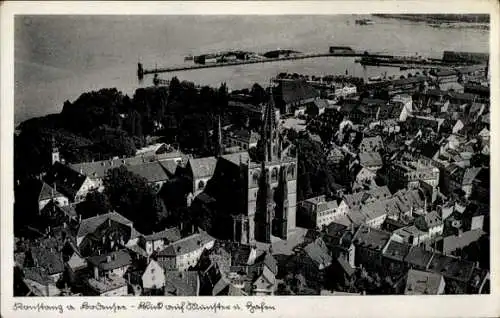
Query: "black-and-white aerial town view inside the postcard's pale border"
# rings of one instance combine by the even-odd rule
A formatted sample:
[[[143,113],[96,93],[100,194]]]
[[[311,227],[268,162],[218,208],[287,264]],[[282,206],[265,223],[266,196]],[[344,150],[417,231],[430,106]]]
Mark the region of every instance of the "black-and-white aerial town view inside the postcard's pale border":
[[[14,301],[490,294],[490,20],[15,15]]]

